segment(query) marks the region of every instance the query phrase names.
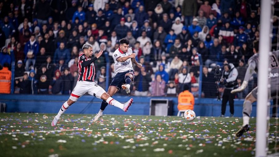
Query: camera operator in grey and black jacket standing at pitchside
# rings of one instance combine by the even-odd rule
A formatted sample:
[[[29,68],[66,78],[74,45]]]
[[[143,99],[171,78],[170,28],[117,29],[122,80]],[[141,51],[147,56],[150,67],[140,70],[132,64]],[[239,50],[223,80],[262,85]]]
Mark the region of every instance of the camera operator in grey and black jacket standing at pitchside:
[[[226,111],[226,105],[229,101],[230,105],[230,112],[231,117],[234,113],[234,98],[235,94],[232,94],[231,91],[235,88],[237,88],[237,76],[238,72],[237,69],[234,67],[232,63],[225,63],[224,64],[224,71],[221,76],[220,82],[224,84],[225,90],[223,93],[223,99],[222,99],[222,108],[221,108],[221,117],[224,117],[225,111]]]

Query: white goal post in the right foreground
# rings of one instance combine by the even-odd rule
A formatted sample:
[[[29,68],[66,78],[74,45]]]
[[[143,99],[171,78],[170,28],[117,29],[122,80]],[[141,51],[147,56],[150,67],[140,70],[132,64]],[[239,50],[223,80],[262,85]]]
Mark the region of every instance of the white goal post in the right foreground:
[[[257,130],[256,157],[267,155],[267,113],[268,106],[268,70],[271,45],[271,7],[272,0],[261,1],[260,41],[258,65],[258,96],[257,96]],[[266,117],[266,118],[265,118]]]

